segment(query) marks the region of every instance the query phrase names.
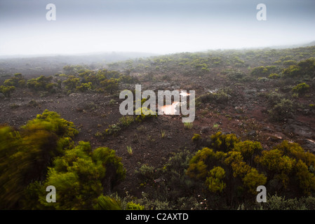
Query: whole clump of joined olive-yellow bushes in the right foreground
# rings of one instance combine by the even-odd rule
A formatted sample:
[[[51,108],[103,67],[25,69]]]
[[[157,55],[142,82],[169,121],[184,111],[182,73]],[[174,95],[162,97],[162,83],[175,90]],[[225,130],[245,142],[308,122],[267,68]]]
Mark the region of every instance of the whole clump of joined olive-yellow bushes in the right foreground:
[[[315,155],[299,144],[283,141],[263,151],[257,141],[240,141],[221,132],[211,137],[211,143],[212,148],[199,150],[189,160],[186,172],[204,183],[210,198],[233,203],[236,198],[257,195],[257,186],[267,186],[269,193],[287,193],[286,189],[296,188],[299,195],[315,191]]]

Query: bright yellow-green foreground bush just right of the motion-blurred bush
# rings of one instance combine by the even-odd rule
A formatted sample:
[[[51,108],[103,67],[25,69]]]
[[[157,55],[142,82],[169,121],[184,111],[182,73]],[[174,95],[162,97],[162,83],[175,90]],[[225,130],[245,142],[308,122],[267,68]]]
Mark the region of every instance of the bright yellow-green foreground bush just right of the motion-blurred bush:
[[[58,189],[58,200],[52,205],[55,209],[119,209],[114,200],[102,193],[110,191],[125,176],[126,170],[115,151],[105,147],[92,151],[88,142],[80,141],[62,157],[55,158],[44,186]]]

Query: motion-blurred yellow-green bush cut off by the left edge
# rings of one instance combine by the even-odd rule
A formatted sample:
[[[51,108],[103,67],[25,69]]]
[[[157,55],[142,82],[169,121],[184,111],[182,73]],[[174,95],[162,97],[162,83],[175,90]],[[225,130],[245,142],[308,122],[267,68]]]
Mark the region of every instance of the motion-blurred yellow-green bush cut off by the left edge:
[[[46,110],[20,131],[5,126],[0,132],[0,182],[4,183],[0,186],[0,207],[16,209],[27,185],[45,179],[48,165],[72,146],[78,131],[58,113]]]

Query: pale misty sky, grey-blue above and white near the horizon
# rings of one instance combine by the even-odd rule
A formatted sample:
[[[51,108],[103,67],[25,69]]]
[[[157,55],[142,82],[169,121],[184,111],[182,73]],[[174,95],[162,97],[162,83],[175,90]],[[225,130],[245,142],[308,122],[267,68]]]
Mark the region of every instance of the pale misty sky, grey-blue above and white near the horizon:
[[[48,3],[56,20],[46,19]],[[259,3],[267,20],[256,18]],[[314,0],[0,0],[0,55],[168,54],[311,41]]]

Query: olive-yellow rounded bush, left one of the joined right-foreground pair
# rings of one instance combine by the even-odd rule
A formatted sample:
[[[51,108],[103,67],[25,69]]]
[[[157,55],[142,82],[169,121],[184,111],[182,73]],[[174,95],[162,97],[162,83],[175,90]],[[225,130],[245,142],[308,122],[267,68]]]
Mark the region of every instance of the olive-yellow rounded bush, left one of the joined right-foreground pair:
[[[240,141],[234,134],[221,132],[210,139],[212,148],[199,150],[189,161],[186,174],[204,183],[208,197],[219,198],[215,208],[224,207],[224,202],[234,203],[236,195],[244,199],[257,194],[257,186],[267,182],[255,163],[255,156],[262,151],[260,143]]]

